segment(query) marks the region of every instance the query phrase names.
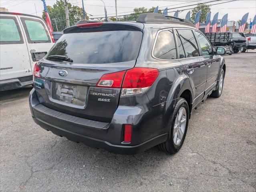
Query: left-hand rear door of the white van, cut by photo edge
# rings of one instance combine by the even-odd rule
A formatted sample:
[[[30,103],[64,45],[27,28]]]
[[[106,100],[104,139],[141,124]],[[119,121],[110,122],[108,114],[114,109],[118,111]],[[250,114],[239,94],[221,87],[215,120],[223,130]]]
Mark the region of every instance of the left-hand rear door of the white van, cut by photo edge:
[[[16,15],[0,14],[1,84],[10,83],[8,79],[24,76],[31,76],[32,81],[28,50],[18,18]]]

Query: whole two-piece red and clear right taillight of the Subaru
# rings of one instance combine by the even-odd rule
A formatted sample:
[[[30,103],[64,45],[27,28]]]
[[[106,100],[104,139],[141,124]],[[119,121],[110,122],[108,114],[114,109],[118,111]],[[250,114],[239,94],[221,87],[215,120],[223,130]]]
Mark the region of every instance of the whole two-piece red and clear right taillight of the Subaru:
[[[121,96],[131,96],[145,92],[158,75],[159,71],[155,68],[135,67],[103,75],[97,87],[122,88]]]

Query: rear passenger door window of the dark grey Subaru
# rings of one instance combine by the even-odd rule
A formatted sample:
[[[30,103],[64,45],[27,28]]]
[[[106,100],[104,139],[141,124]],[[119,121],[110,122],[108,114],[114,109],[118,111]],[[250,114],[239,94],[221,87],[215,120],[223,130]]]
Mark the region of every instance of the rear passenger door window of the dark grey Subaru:
[[[196,44],[196,39],[191,30],[179,29],[179,36],[185,50],[186,57],[197,57],[199,56],[198,46]]]

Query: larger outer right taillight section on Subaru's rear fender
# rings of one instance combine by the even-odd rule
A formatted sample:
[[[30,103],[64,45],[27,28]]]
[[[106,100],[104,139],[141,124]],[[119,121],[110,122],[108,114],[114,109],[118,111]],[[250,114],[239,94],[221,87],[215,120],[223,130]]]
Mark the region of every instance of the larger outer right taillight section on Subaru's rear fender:
[[[144,93],[159,75],[158,69],[135,67],[127,70],[123,80],[121,96]]]

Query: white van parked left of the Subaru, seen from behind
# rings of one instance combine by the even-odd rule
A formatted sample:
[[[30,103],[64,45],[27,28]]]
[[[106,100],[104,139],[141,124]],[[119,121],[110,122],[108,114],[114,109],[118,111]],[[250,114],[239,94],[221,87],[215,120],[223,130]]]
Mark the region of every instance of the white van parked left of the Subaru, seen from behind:
[[[32,85],[34,64],[53,44],[42,18],[0,12],[0,91]]]

